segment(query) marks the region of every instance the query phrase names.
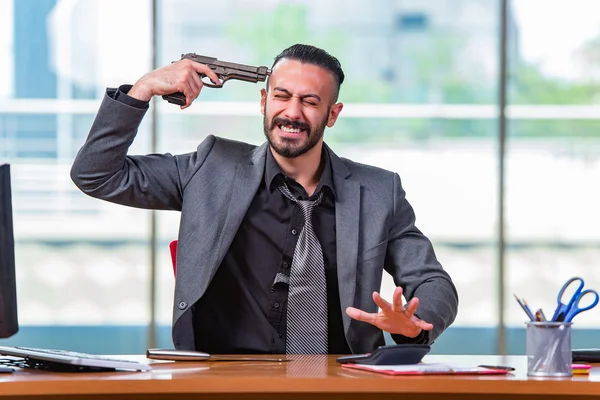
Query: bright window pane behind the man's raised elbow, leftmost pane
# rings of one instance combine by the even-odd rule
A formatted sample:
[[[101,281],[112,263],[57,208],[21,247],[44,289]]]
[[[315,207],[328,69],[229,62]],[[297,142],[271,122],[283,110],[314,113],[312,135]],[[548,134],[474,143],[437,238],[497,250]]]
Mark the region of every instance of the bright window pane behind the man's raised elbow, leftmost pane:
[[[149,212],[84,195],[69,170],[106,86],[150,67],[150,6],[0,0],[0,68],[9,83],[0,93],[0,161],[12,170],[21,324],[10,343],[145,348]],[[133,12],[138,18],[115,29],[115,16]],[[132,151],[147,152],[147,124],[140,136]],[[121,328],[102,338],[100,327],[111,326],[142,327],[142,340],[126,350],[114,334]]]

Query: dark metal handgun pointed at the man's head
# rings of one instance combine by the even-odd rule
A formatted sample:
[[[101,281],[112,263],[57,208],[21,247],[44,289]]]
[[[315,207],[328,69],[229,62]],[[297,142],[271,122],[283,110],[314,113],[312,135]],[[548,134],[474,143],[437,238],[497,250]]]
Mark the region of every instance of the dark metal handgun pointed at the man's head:
[[[225,82],[231,79],[237,79],[240,81],[253,82],[258,81],[264,82],[267,76],[271,74],[271,70],[267,67],[253,67],[251,65],[236,64],[226,61],[219,61],[215,57],[201,56],[196,53],[187,53],[181,55],[181,60],[192,60],[201,64],[208,65],[220,79],[220,84],[213,84],[205,82],[202,83],[204,86],[211,88],[222,88]],[[180,60],[180,61],[181,61]],[[205,78],[205,74],[201,74],[200,79]],[[185,95],[181,92],[163,95],[163,99],[169,103],[177,104],[180,106],[185,105]]]

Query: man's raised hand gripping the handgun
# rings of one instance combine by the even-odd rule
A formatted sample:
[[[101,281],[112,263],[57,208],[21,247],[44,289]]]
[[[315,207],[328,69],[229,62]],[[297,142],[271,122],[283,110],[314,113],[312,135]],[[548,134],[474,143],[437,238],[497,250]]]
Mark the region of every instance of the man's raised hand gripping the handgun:
[[[129,96],[142,101],[149,101],[152,96],[162,96],[181,92],[185,95],[185,105],[188,108],[202,90],[203,74],[219,85],[219,77],[205,64],[188,59],[177,61],[142,76],[127,93]]]

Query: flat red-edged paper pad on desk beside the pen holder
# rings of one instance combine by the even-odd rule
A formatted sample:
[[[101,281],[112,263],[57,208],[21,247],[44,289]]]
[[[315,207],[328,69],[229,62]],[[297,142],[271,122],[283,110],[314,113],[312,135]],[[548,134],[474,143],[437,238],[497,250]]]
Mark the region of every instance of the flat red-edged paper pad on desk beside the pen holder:
[[[504,369],[489,369],[454,364],[421,363],[408,365],[366,365],[344,364],[344,368],[361,369],[387,375],[504,375],[509,371]]]

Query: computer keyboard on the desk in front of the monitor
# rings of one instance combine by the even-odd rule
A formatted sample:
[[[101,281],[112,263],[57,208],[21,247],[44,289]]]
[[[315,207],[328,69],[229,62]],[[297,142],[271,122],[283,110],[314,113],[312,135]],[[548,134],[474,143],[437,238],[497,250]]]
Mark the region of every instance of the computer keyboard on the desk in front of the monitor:
[[[5,357],[6,356],[6,357]],[[0,365],[56,372],[150,371],[148,364],[59,349],[0,346]]]

